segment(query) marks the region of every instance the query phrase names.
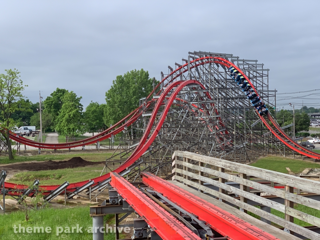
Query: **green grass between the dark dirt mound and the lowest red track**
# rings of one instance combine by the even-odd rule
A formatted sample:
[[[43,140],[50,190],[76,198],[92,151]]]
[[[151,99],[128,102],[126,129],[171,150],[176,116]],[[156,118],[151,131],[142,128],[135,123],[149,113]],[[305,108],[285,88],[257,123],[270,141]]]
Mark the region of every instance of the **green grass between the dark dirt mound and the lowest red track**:
[[[99,177],[103,167],[104,166],[102,164],[99,164],[93,166],[64,168],[57,170],[28,171],[26,172],[26,176],[31,182],[33,182],[35,179],[38,179],[40,181],[40,185],[60,185],[65,181],[74,183]],[[104,173],[106,173],[106,171],[104,171]],[[13,178],[8,180],[8,182],[17,183],[17,174],[15,174]]]

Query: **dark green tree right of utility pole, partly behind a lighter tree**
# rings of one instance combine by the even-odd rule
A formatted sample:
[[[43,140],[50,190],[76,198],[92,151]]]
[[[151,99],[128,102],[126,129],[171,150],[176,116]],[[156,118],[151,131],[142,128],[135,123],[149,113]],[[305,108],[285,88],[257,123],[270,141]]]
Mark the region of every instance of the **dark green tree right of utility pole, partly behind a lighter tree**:
[[[62,108],[62,98],[68,90],[57,88],[48,96],[44,101],[44,111],[48,112],[52,116],[52,121],[55,122],[56,118],[60,114]]]

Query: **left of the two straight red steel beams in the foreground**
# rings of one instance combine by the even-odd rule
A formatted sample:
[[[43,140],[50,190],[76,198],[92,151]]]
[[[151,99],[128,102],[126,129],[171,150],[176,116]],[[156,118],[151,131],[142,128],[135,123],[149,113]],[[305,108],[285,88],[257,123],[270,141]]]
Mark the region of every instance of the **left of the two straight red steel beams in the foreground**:
[[[163,239],[201,240],[199,236],[191,232],[190,229],[141,193],[139,189],[130,184],[118,173],[111,172],[111,186],[124,197],[132,208],[138,212],[149,226]]]

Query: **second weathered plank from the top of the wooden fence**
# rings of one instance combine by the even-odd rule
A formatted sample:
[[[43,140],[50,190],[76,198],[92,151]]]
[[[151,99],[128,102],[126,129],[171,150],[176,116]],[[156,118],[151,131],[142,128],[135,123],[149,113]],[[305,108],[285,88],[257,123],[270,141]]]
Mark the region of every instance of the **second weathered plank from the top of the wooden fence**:
[[[177,164],[185,164],[183,163],[183,161],[177,160]],[[286,193],[284,190],[281,190],[279,188],[272,188],[269,187],[265,184],[261,184],[261,183],[257,183],[255,181],[251,181],[251,180],[246,180],[246,179],[241,179],[239,177],[236,177],[234,175],[228,174],[228,173],[223,173],[223,172],[219,172],[210,168],[205,168],[205,167],[199,167],[193,164],[187,164],[187,166],[189,168],[195,169],[197,171],[202,171],[202,172],[206,172],[208,174],[211,174],[213,176],[217,176],[229,181],[234,181],[240,184],[244,184],[248,187],[254,188],[254,189],[258,189],[260,191],[263,192],[267,192],[270,194],[273,194],[275,196],[287,199],[289,201],[295,202],[295,203],[299,203],[299,204],[303,204],[306,205],[308,207],[312,207],[314,209],[320,210],[320,202],[314,199],[310,199],[304,196],[299,196],[293,193]]]

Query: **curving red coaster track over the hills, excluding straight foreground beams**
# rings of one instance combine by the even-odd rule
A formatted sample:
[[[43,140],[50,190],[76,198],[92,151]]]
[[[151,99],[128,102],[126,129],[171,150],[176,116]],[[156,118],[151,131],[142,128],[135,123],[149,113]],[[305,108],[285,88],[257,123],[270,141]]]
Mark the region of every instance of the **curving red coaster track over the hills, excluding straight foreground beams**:
[[[194,65],[192,66],[197,67],[200,66],[202,64],[207,64],[207,63],[215,63],[215,64],[220,64],[223,65],[225,67],[230,67],[233,66],[234,68],[236,68],[239,73],[241,73],[245,79],[249,82],[249,84],[251,85],[252,89],[255,91],[255,93],[257,94],[257,96],[259,96],[257,90],[255,89],[255,87],[253,86],[253,84],[250,82],[249,78],[241,71],[241,69],[239,69],[237,66],[235,66],[233,63],[231,63],[230,61],[224,59],[224,58],[220,58],[220,57],[204,57],[204,58],[199,58],[199,59],[195,59],[192,60],[194,62]],[[181,91],[181,89],[183,89],[185,86],[187,86],[188,84],[197,84],[199,85],[199,87],[201,87],[202,89],[205,89],[205,87],[198,81],[196,80],[176,80],[179,77],[179,74],[177,74],[177,72],[180,71],[180,74],[184,73],[185,71],[188,71],[188,63],[186,63],[185,65],[182,65],[181,67],[177,68],[176,70],[172,71],[172,73],[170,73],[168,76],[166,76],[157,86],[155,89],[157,89],[161,84],[164,83],[165,80],[167,80],[169,77],[171,77],[170,81],[164,85],[165,89],[160,90],[159,92],[157,92],[157,95],[160,95],[159,98],[157,99],[153,99],[153,101],[156,101],[156,105],[153,109],[150,121],[148,123],[148,126],[146,128],[146,131],[144,132],[144,135],[142,136],[139,145],[135,148],[134,152],[132,153],[132,155],[122,164],[120,165],[117,169],[115,169],[113,172],[122,172],[124,170],[126,170],[128,167],[130,167],[132,164],[134,164],[134,162],[139,159],[139,157],[148,149],[148,147],[152,144],[152,142],[154,141],[154,139],[156,138],[158,132],[160,131],[162,124],[164,122],[164,119],[171,107],[171,105],[173,104],[174,100],[176,99],[177,95],[179,94],[179,92]],[[175,81],[176,80],[176,81]],[[170,95],[168,95],[168,93],[170,92]],[[152,96],[153,92],[150,93],[149,97]],[[207,92],[206,93],[207,96],[210,98],[210,93]],[[155,127],[155,129],[153,131],[151,131],[151,126],[153,123],[153,120],[156,118],[158,109],[160,108],[160,106],[162,106],[164,104],[164,100],[166,100],[165,103],[165,108],[159,118],[159,121]],[[148,103],[147,103],[148,104]],[[73,148],[76,146],[84,146],[87,144],[92,144],[95,143],[97,141],[100,140],[104,140],[107,138],[110,138],[111,135],[115,135],[121,131],[123,131],[125,129],[125,127],[130,126],[136,119],[139,118],[139,116],[142,113],[139,113],[141,106],[139,108],[137,108],[136,110],[132,111],[132,113],[130,113],[128,116],[126,116],[124,119],[122,119],[121,121],[119,121],[117,124],[115,124],[114,126],[110,127],[109,129],[107,129],[104,132],[101,132],[100,134],[94,136],[94,137],[90,137],[86,140],[80,140],[80,141],[75,141],[75,142],[69,142],[69,143],[56,143],[56,144],[45,144],[45,143],[39,143],[39,142],[35,142],[32,140],[28,140],[26,138],[17,136],[16,134],[10,134],[10,138],[12,140],[18,141],[20,143],[26,144],[28,146],[33,146],[33,147],[37,147],[37,148],[48,148],[48,149],[60,149],[60,148]],[[216,110],[217,111],[217,110]],[[218,114],[218,111],[217,111]],[[258,116],[260,116],[259,114],[257,114]],[[295,142],[292,138],[290,138],[282,129],[281,127],[276,123],[276,121],[272,118],[272,116],[268,113],[268,115],[266,116],[267,118],[265,118],[264,116],[260,116],[262,122],[266,125],[266,127],[276,136],[277,139],[279,139],[281,142],[283,142],[287,147],[291,148],[292,150],[304,155],[304,156],[308,156],[314,159],[320,159],[320,154],[312,152],[310,150],[308,150],[307,148],[302,147],[300,144],[298,144],[297,142]],[[271,126],[268,121],[270,121],[273,126]],[[227,133],[227,132],[225,132]],[[110,173],[107,173],[105,175],[102,175],[100,177],[97,177],[94,180],[95,184],[100,183],[103,180],[106,180],[110,178]],[[69,192],[74,191],[76,188],[79,188],[81,186],[83,186],[85,183],[87,183],[87,181],[82,181],[82,182],[77,182],[77,183],[71,183],[69,184],[69,186],[67,187],[67,190]],[[94,186],[93,185],[93,186]],[[50,193],[50,191],[56,189],[58,187],[58,185],[46,185],[46,186],[40,186],[42,189],[45,190],[45,192]],[[23,186],[20,185],[16,185],[13,183],[5,183],[5,188],[7,189],[15,189],[14,191],[10,192],[10,194],[16,195],[16,189],[22,189],[24,188]],[[14,193],[15,192],[15,193]]]

